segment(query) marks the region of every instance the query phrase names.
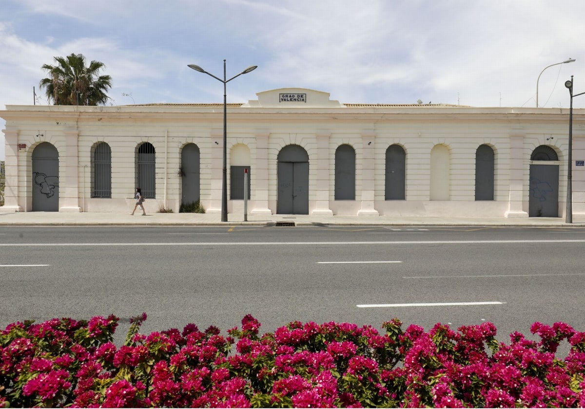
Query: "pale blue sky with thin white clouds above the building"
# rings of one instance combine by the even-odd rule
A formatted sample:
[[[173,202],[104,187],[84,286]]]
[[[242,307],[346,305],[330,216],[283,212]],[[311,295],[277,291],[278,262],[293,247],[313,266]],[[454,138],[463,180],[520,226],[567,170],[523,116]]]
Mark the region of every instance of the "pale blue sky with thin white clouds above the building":
[[[48,105],[41,67],[71,53],[105,64],[113,106],[221,103],[223,85],[187,64],[223,77],[225,59],[228,78],[258,65],[228,102],[300,87],[342,103],[535,107],[538,80],[539,106],[568,108],[571,75],[585,92],[583,22],[583,0],[2,0],[0,110]]]

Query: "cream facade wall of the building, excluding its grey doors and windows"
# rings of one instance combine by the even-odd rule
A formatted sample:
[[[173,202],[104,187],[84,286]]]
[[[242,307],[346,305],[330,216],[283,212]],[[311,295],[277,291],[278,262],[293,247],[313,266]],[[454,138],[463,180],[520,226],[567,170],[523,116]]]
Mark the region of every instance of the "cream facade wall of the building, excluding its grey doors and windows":
[[[566,109],[473,108],[422,105],[342,105],[326,93],[303,92],[311,105],[278,101],[283,90],[228,109],[228,199],[230,165],[250,165],[250,214],[277,211],[278,153],[287,145],[309,157],[309,214],[358,216],[528,217],[531,153],[548,145],[558,154],[559,217],[566,199]],[[149,212],[181,204],[181,150],[200,151],[199,191],[207,212],[221,212],[223,111],[215,105],[121,107],[8,106],[6,189],[2,210],[32,210],[32,152],[49,142],[59,152],[60,212],[125,212],[133,207],[136,152],[148,142],[156,150],[156,198]],[[573,212],[585,213],[585,110],[573,113]],[[111,197],[92,197],[92,152],[111,148]],[[335,152],[355,150],[355,200],[335,200]],[[385,200],[386,150],[405,151],[405,200]],[[494,150],[494,200],[474,200],[476,150]],[[446,162],[433,169],[431,153],[444,147]],[[235,149],[235,150],[234,150]],[[232,158],[232,152],[236,153]],[[248,164],[242,153],[248,152]],[[436,175],[445,175],[439,177]],[[448,194],[437,195],[437,186]],[[435,193],[433,193],[435,192]],[[439,200],[434,200],[439,199]],[[228,200],[229,213],[243,212],[243,200]]]

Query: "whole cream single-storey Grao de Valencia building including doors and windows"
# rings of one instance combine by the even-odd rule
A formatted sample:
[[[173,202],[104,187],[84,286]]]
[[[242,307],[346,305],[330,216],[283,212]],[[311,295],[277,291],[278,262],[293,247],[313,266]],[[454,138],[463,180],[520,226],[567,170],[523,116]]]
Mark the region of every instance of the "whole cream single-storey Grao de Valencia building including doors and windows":
[[[223,104],[20,106],[6,120],[14,212],[221,212]],[[585,109],[572,207],[585,214]],[[339,103],[303,88],[229,103],[228,213],[563,217],[569,109]]]

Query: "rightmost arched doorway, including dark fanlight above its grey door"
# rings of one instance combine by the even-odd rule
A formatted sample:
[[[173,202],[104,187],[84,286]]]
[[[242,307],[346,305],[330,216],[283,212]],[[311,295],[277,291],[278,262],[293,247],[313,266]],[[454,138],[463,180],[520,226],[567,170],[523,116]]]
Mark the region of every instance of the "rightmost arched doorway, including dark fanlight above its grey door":
[[[540,145],[530,156],[528,217],[559,217],[559,157]]]

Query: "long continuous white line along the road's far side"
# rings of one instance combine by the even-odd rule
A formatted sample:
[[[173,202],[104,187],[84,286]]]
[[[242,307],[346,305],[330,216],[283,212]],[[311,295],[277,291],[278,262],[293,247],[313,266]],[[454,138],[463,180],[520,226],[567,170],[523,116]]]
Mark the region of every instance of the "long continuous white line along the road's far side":
[[[71,246],[157,246],[157,245],[416,245],[416,244],[566,244],[583,243],[585,239],[565,240],[432,240],[432,241],[237,241],[237,242],[120,242],[120,243],[0,243],[0,247],[71,247]]]

